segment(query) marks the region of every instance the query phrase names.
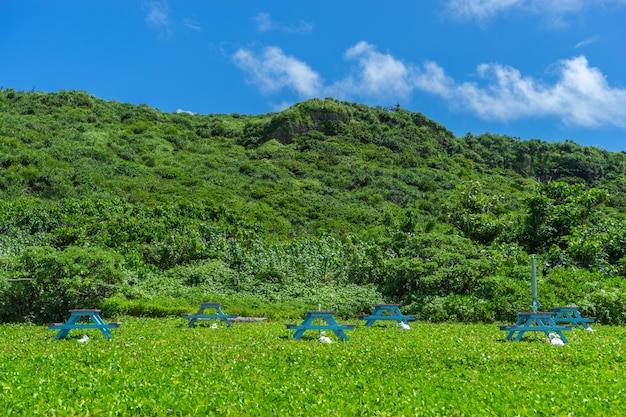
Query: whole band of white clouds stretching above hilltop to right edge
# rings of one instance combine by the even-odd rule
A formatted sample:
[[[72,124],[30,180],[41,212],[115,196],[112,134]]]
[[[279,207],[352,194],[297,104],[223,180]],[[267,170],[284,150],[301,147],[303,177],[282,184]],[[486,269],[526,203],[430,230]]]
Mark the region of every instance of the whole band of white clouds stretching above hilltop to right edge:
[[[233,56],[248,80],[267,94],[288,90],[300,98],[333,96],[379,103],[431,94],[456,111],[484,120],[554,117],[567,125],[626,128],[626,89],[611,86],[584,56],[552,65],[546,79],[506,65],[481,64],[471,81],[455,80],[435,62],[404,63],[367,42],[349,48],[344,58],[357,62],[353,71],[323,85],[316,71],[280,48],[266,48],[259,56],[241,49]]]

